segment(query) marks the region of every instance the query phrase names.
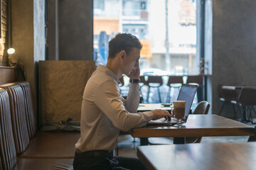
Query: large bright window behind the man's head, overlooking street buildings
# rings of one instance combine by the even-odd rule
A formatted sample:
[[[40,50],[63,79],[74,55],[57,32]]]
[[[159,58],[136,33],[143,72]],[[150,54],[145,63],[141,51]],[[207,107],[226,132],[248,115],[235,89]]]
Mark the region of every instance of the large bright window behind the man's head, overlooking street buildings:
[[[195,0],[94,0],[95,60],[107,62],[107,43],[117,32],[143,44],[141,68],[166,74],[198,74]]]

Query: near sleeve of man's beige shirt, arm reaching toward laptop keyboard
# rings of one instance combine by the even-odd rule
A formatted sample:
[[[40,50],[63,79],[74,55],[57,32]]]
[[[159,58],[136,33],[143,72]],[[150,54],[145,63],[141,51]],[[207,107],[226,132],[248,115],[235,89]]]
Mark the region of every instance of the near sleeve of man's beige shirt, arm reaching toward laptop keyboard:
[[[136,88],[137,87],[135,87],[135,89]],[[132,94],[128,94],[128,96],[131,95]],[[129,98],[132,98],[132,96]],[[129,111],[137,111],[137,108],[135,108],[136,104],[132,102],[132,99],[129,101],[129,98],[127,98],[127,108],[129,108]],[[117,84],[114,84],[113,81],[106,81],[100,85],[95,95],[94,102],[97,108],[112,121],[113,125],[124,132],[132,128],[144,126],[153,118],[153,113],[150,111],[129,113],[124,107],[122,96],[119,94],[119,87]],[[139,102],[137,102],[137,104],[139,104]]]

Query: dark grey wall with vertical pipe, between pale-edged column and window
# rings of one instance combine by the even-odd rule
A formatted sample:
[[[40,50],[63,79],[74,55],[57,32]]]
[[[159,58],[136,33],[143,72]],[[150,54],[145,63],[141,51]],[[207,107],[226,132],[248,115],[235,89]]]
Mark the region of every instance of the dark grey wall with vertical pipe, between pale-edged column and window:
[[[48,0],[46,60],[92,60],[92,0]]]

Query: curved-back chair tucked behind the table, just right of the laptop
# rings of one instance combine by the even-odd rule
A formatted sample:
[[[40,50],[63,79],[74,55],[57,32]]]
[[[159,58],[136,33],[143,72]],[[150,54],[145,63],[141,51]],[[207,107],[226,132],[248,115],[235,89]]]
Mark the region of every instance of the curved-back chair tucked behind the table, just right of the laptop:
[[[201,101],[196,106],[193,114],[208,114],[210,103],[208,101]],[[186,137],[186,143],[199,143],[202,137]],[[174,144],[173,137],[149,137],[149,145],[169,145]]]

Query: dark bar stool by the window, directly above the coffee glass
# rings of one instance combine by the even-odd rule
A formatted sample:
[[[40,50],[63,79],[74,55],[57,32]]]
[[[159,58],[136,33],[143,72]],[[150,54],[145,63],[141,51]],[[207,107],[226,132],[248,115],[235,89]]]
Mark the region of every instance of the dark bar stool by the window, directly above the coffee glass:
[[[169,87],[169,92],[167,94],[166,103],[171,103],[171,88],[179,89],[183,84],[183,76],[169,76],[167,86]]]

